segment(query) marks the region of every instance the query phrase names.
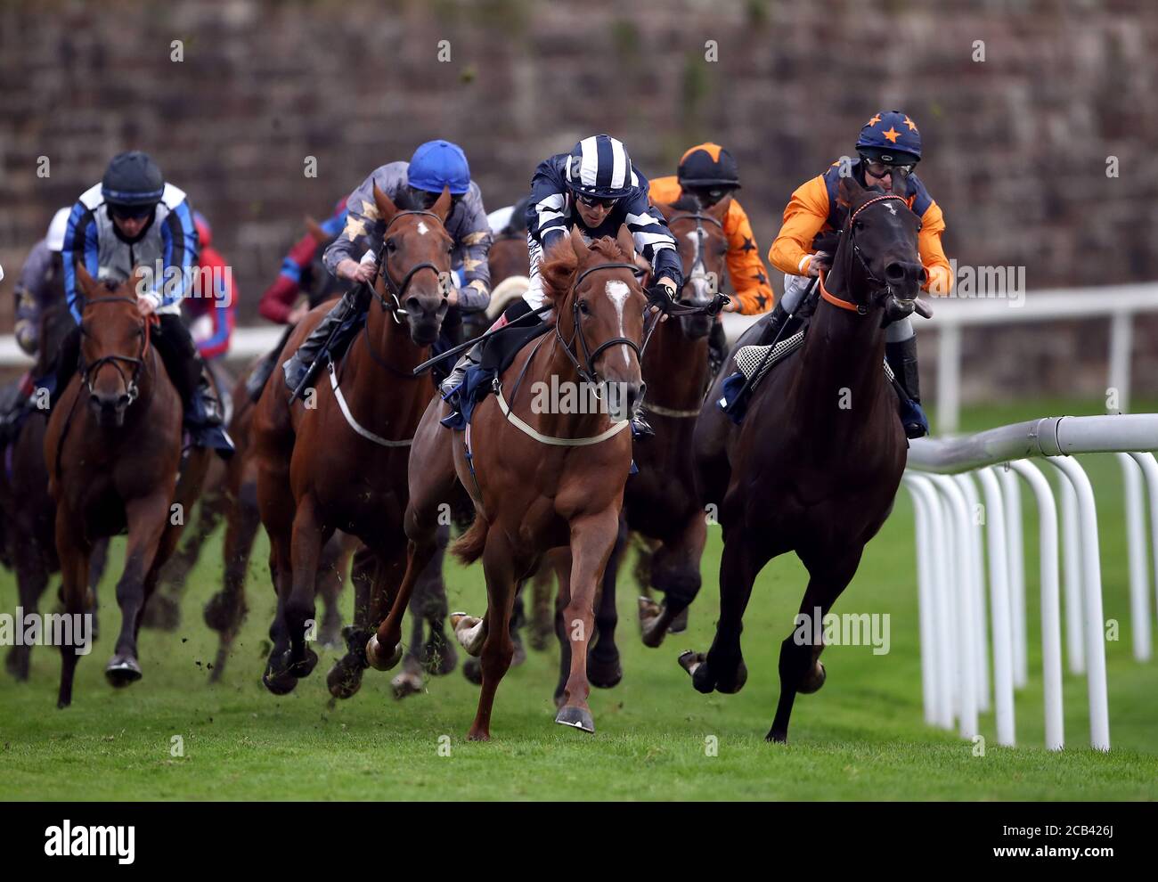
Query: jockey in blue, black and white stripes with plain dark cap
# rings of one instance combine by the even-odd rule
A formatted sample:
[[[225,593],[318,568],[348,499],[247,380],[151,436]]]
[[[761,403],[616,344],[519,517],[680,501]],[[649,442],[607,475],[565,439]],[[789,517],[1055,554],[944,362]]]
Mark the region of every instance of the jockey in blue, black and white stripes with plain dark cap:
[[[197,230],[185,193],[168,184],[161,169],[140,150],[112,157],[100,184],[85,191],[68,216],[64,242],[65,299],[76,328],[61,344],[58,389],[76,370],[83,304],[76,264],[94,279],[127,279],[135,266],[151,271],[151,289],[138,294],[141,316],[155,315],[153,332],[164,367],[184,406],[185,427],[198,447],[233,454],[221,427],[221,411],[204,375],[204,362],[181,321],[181,301],[195,278]],[[161,278],[157,277],[161,270]]]

